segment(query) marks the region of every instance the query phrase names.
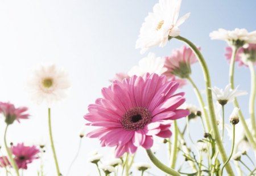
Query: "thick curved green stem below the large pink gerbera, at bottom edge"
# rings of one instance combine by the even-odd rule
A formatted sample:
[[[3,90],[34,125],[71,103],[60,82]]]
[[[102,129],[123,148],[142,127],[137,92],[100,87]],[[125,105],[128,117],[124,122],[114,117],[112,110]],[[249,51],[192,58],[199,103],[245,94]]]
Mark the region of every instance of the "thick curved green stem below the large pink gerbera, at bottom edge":
[[[147,151],[147,155],[148,155],[148,157],[150,158],[150,160],[151,160],[151,161],[154,163],[154,165],[155,165],[156,167],[158,167],[160,170],[164,171],[164,172],[167,173],[167,174],[173,175],[173,176],[180,176],[180,174],[179,174],[176,170],[174,170],[174,169],[172,169],[172,168],[168,168],[166,165],[164,165],[162,162],[160,162],[160,161],[158,160],[158,158],[156,158],[156,157],[154,156],[154,154],[152,153],[152,151],[151,151],[150,149],[147,149],[146,151]]]

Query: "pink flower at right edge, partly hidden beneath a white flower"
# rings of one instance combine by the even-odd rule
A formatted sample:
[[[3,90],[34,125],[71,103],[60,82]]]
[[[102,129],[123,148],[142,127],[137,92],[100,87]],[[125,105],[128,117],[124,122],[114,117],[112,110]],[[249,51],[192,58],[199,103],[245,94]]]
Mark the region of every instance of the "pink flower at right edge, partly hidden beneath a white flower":
[[[232,48],[230,46],[226,47],[225,57],[230,62],[232,57]],[[236,62],[239,66],[246,66],[246,62],[250,60],[256,65],[256,44],[249,44],[248,48],[239,48],[236,54]]]

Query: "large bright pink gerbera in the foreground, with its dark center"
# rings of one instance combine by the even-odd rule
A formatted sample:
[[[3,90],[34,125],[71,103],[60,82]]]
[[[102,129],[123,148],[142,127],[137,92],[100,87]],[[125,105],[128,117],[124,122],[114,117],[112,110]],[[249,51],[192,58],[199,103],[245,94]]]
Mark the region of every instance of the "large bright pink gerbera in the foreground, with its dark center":
[[[134,153],[139,146],[152,147],[152,135],[169,138],[172,120],[189,111],[177,109],[185,101],[184,93],[174,94],[179,84],[166,76],[145,74],[114,81],[102,89],[103,98],[88,106],[86,125],[98,126],[87,136],[98,138],[101,145],[114,147],[115,156]]]

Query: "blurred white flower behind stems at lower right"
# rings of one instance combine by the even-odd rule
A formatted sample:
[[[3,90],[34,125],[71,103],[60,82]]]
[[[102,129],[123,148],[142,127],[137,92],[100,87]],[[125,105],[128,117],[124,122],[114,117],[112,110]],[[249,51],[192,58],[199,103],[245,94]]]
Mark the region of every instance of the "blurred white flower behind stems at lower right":
[[[246,124],[247,124],[249,130],[252,131],[253,128],[251,126],[251,119],[246,119]],[[225,125],[225,128],[228,131],[229,139],[232,140],[233,139],[233,127],[230,125]],[[251,146],[250,146],[248,139],[246,138],[245,130],[243,128],[242,123],[238,123],[236,125],[235,136],[236,136],[235,137],[235,145],[237,145],[241,151],[248,151]]]

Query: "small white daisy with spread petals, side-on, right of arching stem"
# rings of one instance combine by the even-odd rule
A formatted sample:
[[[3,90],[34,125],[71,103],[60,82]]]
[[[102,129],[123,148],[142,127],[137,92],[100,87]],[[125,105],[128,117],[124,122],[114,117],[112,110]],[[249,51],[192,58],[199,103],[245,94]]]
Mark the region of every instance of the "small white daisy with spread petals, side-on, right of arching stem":
[[[238,88],[238,87],[237,87]],[[234,98],[241,95],[246,95],[246,91],[239,91],[236,89],[231,89],[230,85],[226,85],[225,89],[220,89],[216,86],[212,88],[213,97],[221,104],[225,105],[227,102],[234,101]]]

